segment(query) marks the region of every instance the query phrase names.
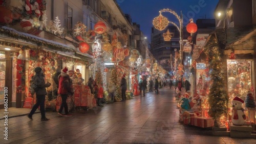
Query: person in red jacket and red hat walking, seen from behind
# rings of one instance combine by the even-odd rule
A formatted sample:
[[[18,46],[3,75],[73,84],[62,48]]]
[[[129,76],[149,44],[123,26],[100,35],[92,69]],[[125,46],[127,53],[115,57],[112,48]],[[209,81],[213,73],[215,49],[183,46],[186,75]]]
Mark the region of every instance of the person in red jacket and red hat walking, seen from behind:
[[[58,76],[59,81],[59,89],[58,94],[61,96],[61,105],[58,110],[59,116],[71,117],[72,115],[68,112],[68,104],[67,98],[69,95],[73,95],[74,92],[72,90],[72,80],[70,79],[69,75],[67,74],[68,68],[61,69],[61,73]],[[65,114],[62,114],[62,110],[65,110]]]

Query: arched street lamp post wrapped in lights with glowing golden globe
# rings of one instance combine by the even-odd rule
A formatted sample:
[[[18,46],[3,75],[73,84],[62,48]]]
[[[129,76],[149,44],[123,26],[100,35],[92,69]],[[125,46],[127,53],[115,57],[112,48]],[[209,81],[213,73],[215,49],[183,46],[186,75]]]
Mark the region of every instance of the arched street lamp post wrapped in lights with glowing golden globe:
[[[175,15],[175,17],[179,20],[179,26],[172,22],[172,21],[168,21],[168,19],[164,16],[162,16],[162,12],[169,12],[173,15]],[[183,20],[182,20],[182,12],[181,12],[181,16],[179,16],[175,11],[170,10],[170,9],[162,9],[159,11],[159,16],[155,17],[153,19],[153,25],[154,27],[159,30],[159,31],[163,31],[169,23],[172,23],[174,26],[177,27],[178,31],[180,32],[180,62],[181,64],[183,64]]]

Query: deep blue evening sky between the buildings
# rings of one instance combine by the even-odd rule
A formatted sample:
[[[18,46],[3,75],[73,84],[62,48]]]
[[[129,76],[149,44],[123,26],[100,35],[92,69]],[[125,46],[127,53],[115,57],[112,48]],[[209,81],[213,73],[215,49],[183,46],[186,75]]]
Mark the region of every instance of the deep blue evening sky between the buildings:
[[[171,9],[178,15],[183,14],[183,26],[190,18],[196,22],[199,18],[214,18],[218,0],[116,0],[124,14],[130,14],[132,22],[140,24],[140,30],[150,41],[152,21],[159,15],[159,10]],[[179,26],[178,19],[171,13],[163,16]]]

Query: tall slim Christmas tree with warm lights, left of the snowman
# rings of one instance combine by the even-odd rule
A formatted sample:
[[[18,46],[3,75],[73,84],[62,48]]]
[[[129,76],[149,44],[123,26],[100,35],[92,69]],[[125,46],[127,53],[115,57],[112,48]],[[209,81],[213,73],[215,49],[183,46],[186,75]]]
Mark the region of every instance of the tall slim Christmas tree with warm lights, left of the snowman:
[[[205,45],[205,53],[209,60],[209,73],[211,79],[208,96],[208,113],[210,117],[218,121],[223,114],[227,113],[228,96],[223,87],[224,78],[218,42],[214,35],[210,35],[209,37],[209,41]]]

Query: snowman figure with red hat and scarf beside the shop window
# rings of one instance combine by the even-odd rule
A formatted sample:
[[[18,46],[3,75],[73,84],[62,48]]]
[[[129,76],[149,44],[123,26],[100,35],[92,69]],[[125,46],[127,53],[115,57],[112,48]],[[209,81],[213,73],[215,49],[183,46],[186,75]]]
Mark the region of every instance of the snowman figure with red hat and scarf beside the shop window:
[[[239,97],[234,97],[232,101],[233,105],[233,114],[231,117],[232,123],[234,125],[243,125],[245,124],[245,113],[244,109],[242,108],[242,104],[244,103],[244,100],[242,100]]]

